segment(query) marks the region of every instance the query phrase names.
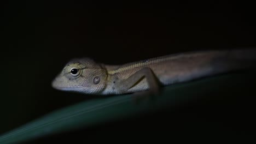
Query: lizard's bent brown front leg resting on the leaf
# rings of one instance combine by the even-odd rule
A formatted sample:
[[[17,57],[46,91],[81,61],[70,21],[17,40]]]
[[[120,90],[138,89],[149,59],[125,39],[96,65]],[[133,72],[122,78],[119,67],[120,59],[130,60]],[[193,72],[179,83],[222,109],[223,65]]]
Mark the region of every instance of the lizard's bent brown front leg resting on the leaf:
[[[150,68],[142,68],[136,73],[132,74],[125,80],[121,80],[117,83],[117,89],[120,93],[126,93],[130,88],[135,87],[142,80],[146,79],[149,86],[149,92],[158,94],[159,81]]]

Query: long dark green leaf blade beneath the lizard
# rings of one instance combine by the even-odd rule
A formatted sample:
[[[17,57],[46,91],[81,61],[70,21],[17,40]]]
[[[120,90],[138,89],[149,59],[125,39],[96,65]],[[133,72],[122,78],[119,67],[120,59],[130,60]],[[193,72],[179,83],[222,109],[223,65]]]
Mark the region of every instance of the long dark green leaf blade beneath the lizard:
[[[142,99],[139,103],[135,103],[135,98],[132,94],[83,101],[49,113],[42,118],[3,134],[0,136],[0,143],[18,143],[63,131],[86,128],[131,117],[139,113],[150,113],[166,109],[166,107],[186,104],[190,100],[196,99],[200,94],[216,91],[220,85],[225,86],[228,83],[232,83],[234,79],[236,81],[251,79],[254,74],[255,72],[232,73],[167,86],[162,88],[162,93],[154,97],[153,100]]]

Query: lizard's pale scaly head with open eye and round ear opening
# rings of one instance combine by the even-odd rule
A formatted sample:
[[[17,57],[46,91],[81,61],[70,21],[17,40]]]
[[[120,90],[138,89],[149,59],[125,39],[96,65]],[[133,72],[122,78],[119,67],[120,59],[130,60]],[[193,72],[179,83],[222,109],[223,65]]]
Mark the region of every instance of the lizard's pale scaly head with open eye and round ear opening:
[[[106,86],[107,71],[92,59],[73,59],[53,80],[52,86],[62,91],[97,94]]]

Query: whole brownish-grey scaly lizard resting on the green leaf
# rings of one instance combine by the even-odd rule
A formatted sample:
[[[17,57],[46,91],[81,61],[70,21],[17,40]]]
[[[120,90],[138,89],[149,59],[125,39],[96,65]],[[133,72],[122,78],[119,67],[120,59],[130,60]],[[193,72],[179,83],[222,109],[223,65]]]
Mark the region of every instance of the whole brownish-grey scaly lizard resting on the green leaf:
[[[190,51],[123,65],[75,58],[65,65],[51,85],[61,91],[92,95],[158,93],[161,86],[254,68],[255,64],[256,49]]]

